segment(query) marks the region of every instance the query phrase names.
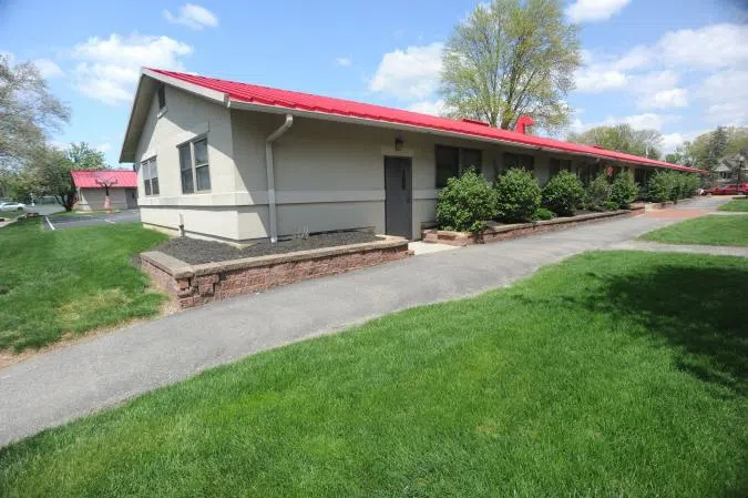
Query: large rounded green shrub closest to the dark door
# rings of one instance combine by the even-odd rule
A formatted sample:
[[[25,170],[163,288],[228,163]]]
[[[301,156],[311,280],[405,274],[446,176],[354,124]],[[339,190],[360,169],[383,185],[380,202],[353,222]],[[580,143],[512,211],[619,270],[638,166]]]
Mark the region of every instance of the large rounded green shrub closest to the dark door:
[[[437,221],[442,230],[480,232],[496,215],[496,191],[475,170],[447,181],[437,201]]]

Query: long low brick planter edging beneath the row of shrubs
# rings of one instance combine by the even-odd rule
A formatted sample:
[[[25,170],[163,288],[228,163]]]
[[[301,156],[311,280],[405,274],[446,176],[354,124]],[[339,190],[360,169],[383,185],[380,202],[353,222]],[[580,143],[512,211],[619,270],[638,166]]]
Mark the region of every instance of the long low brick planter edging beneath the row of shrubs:
[[[450,232],[445,230],[424,230],[421,232],[423,242],[434,242],[449,245],[472,245],[484,244],[489,242],[506,241],[510,238],[532,235],[543,232],[553,232],[585,223],[596,223],[616,217],[638,216],[644,213],[641,205],[632,206],[631,210],[608,211],[605,213],[582,214],[578,216],[557,217],[555,220],[515,223],[511,225],[489,226],[486,230],[478,233],[472,232]]]

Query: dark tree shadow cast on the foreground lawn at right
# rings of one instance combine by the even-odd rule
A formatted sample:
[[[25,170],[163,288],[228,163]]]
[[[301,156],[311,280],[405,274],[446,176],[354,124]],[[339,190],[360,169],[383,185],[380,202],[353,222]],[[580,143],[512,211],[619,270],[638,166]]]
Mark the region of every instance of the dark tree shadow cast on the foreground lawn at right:
[[[748,395],[748,271],[663,265],[603,277],[588,306],[644,325],[682,354],[678,367]]]

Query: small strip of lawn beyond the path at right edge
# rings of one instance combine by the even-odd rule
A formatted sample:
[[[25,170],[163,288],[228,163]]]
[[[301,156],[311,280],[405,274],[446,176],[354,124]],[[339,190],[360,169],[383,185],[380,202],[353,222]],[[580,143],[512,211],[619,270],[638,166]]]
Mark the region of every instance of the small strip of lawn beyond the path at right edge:
[[[668,244],[748,246],[748,216],[700,216],[645,233],[639,238]]]

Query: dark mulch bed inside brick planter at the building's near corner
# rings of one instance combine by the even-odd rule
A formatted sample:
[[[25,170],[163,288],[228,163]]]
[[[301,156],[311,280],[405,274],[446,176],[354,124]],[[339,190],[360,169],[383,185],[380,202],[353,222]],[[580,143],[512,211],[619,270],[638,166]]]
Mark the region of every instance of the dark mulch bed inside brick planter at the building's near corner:
[[[176,237],[155,247],[153,251],[161,251],[164,254],[194,265],[244,257],[267,256],[270,254],[286,254],[296,251],[337,247],[349,244],[363,244],[380,240],[382,238],[366,232],[335,232],[309,235],[307,238],[278,241],[276,244],[258,242],[249,247],[237,248],[222,242]]]

